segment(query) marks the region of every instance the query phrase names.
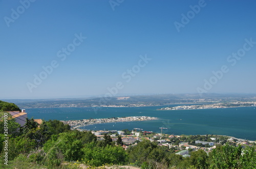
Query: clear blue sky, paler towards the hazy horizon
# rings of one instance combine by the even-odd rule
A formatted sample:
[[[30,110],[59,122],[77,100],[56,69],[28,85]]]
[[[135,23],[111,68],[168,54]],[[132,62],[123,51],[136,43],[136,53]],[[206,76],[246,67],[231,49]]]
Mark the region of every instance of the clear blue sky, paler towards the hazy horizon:
[[[245,39],[256,42],[255,1],[125,0],[114,10],[109,1],[24,4],[27,8],[19,1],[0,1],[0,99],[104,95],[118,81],[118,95],[197,93],[198,88],[256,93],[256,44],[246,44],[236,63],[234,58],[227,61],[243,49]],[[189,6],[198,4],[200,11],[191,12]],[[181,14],[190,19],[183,20],[178,32],[174,23],[182,23]],[[80,33],[87,39],[75,40],[77,46],[65,60],[58,57]],[[145,54],[152,60],[136,69]],[[58,67],[35,85],[34,75],[52,61]],[[204,88],[204,80],[223,65],[229,71]],[[134,77],[127,71],[132,68]]]

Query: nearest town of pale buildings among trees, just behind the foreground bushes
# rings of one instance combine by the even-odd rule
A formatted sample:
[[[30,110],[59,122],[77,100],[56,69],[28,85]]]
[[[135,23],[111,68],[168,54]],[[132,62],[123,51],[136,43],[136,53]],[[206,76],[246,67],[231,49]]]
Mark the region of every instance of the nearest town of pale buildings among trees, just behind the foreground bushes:
[[[113,142],[117,142],[118,136],[121,136],[123,142],[123,149],[126,150],[129,147],[136,146],[139,142],[143,140],[150,140],[150,142],[156,142],[159,146],[165,146],[169,151],[181,155],[183,157],[190,157],[190,152],[203,150],[207,154],[212,150],[216,149],[218,146],[224,144],[230,144],[233,146],[241,145],[245,146],[255,146],[256,141],[250,141],[240,138],[235,138],[226,135],[173,135],[164,133],[154,133],[152,131],[136,131],[124,129],[121,131],[117,130],[96,130],[92,131],[94,135],[97,136],[98,140],[103,140],[104,135],[109,135]]]

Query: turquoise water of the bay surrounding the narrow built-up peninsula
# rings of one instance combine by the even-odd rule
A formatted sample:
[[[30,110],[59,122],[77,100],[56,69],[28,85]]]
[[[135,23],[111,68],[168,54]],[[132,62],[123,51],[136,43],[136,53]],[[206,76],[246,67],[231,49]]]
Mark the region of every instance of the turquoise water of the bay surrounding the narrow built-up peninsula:
[[[172,106],[172,105],[170,105]],[[143,122],[105,123],[85,126],[91,130],[121,130],[142,128],[145,131],[166,134],[220,134],[256,140],[256,107],[236,107],[194,110],[156,110],[153,107],[69,107],[69,108],[30,108],[26,109],[28,118],[79,120],[127,116],[151,116],[159,120]]]

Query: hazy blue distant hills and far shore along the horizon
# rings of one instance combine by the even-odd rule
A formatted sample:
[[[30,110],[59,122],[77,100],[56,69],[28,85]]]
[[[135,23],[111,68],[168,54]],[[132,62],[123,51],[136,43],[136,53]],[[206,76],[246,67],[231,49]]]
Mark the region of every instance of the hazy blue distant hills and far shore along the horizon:
[[[255,101],[256,94],[160,94],[118,97],[5,99],[23,108],[94,107],[94,106],[158,106],[168,104]]]

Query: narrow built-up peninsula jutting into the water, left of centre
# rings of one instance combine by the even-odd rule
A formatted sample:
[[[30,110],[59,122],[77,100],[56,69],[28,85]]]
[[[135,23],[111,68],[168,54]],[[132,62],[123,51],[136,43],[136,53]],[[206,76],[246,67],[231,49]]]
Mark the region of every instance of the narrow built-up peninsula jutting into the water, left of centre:
[[[82,119],[82,120],[67,120],[61,121],[64,124],[70,125],[71,129],[79,128],[82,126],[88,126],[93,124],[100,123],[116,123],[116,122],[134,122],[134,121],[147,121],[147,120],[157,120],[156,117],[148,117],[148,116],[132,116],[132,117],[112,117],[106,119]]]

